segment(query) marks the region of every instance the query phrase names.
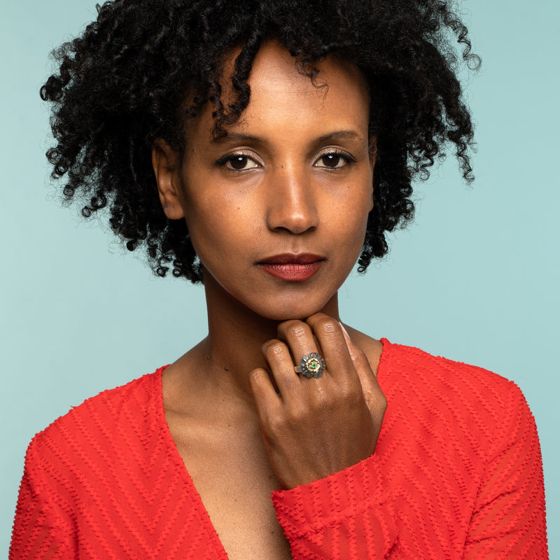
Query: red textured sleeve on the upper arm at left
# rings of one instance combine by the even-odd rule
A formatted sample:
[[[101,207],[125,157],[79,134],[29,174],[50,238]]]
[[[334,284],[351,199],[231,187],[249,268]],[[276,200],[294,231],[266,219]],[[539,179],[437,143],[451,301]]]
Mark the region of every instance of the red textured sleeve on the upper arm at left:
[[[45,482],[36,447],[33,440],[27,449],[9,560],[76,559],[69,515],[57,505],[55,490]]]

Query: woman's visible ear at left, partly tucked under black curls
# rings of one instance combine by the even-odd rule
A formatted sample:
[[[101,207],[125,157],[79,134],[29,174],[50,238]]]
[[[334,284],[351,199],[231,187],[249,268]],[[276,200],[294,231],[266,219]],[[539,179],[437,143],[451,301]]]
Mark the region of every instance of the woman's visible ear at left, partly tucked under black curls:
[[[158,183],[160,202],[169,220],[185,217],[181,204],[181,166],[180,158],[162,138],[155,139],[152,148],[152,167],[155,182]]]

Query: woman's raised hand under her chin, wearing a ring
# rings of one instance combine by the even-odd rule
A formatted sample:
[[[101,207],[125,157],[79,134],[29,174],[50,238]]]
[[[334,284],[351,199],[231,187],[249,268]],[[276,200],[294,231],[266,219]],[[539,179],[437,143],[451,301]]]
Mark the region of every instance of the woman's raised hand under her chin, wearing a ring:
[[[290,489],[370,456],[387,402],[367,357],[335,319],[285,321],[278,337],[262,346],[270,374],[258,368],[249,380],[272,468]],[[294,370],[311,352],[325,360],[319,379]]]

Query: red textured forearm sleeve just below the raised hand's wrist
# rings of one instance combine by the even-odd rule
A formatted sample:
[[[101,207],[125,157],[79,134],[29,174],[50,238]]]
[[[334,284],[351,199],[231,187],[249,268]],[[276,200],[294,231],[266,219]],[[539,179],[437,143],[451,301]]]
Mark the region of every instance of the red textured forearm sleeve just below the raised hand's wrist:
[[[397,540],[395,508],[377,457],[272,493],[294,560],[384,559]]]

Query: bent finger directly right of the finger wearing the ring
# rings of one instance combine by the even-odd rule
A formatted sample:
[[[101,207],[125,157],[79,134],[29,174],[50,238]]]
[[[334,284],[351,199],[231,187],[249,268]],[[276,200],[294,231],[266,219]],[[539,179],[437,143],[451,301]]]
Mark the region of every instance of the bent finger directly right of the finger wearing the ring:
[[[329,375],[353,379],[356,372],[340,323],[328,315],[316,313],[307,319],[307,324],[321,347]]]

